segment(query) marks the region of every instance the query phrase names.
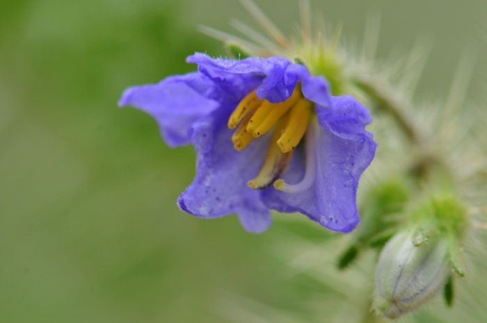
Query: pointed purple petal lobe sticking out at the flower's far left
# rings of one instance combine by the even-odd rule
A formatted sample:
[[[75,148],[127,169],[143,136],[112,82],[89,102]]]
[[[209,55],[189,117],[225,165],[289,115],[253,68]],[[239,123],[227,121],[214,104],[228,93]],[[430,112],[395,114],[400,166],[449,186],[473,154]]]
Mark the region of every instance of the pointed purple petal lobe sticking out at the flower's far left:
[[[118,105],[134,106],[150,114],[159,124],[166,143],[177,147],[191,141],[193,122],[218,108],[219,103],[209,99],[212,91],[214,86],[209,78],[190,73],[128,88]]]

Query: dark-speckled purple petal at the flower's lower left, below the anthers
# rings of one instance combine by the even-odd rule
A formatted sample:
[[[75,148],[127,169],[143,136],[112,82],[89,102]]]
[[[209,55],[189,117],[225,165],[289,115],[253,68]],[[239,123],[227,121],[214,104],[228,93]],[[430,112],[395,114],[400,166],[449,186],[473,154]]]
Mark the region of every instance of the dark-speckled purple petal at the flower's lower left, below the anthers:
[[[271,215],[260,200],[260,193],[248,188],[247,181],[259,171],[269,136],[250,142],[243,151],[235,151],[229,114],[214,113],[193,126],[193,145],[197,172],[193,183],[178,200],[182,210],[198,217],[221,217],[237,213],[247,231],[261,232],[271,224]]]

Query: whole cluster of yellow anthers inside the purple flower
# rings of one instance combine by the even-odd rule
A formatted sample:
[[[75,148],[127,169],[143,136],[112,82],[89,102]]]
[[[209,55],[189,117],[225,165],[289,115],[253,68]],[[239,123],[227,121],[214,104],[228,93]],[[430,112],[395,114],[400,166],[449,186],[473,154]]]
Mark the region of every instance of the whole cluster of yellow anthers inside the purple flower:
[[[235,108],[228,119],[228,128],[237,128],[232,142],[238,151],[275,126],[260,172],[248,182],[250,188],[266,188],[284,172],[308,128],[311,107],[312,103],[301,94],[301,87],[296,86],[286,101],[261,100],[253,91]]]

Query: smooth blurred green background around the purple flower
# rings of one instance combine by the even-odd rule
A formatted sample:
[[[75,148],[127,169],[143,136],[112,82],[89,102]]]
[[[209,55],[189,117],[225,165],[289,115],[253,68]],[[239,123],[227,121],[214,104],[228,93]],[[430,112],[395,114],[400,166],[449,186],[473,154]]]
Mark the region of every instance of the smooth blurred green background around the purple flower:
[[[293,31],[297,1],[257,3]],[[428,35],[425,97],[445,97],[465,47],[487,51],[486,1],[312,6],[344,22],[347,42],[362,38],[367,13],[380,13],[379,57]],[[253,235],[234,216],[182,213],[193,149],[166,147],[153,119],[116,106],[129,85],[194,70],[184,58],[195,51],[224,55],[196,28],[230,31],[230,17],[252,22],[237,0],[1,1],[0,322],[234,322],[225,295],[299,313],[325,292],[283,269],[271,246],[329,233],[301,216],[274,215]],[[285,322],[261,309],[257,318],[233,311],[241,322]],[[274,319],[258,319],[264,312]]]

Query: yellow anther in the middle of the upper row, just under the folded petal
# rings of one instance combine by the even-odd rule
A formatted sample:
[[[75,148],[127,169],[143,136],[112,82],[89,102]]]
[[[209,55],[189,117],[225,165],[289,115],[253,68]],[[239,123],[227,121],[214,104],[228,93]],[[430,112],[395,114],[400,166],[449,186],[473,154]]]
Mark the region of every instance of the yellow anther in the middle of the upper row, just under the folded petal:
[[[257,138],[269,131],[276,122],[291,108],[301,97],[301,88],[296,87],[289,99],[279,103],[264,101],[250,119],[247,131]]]

